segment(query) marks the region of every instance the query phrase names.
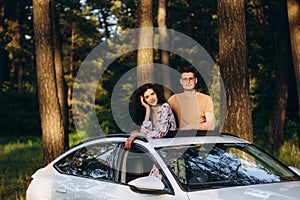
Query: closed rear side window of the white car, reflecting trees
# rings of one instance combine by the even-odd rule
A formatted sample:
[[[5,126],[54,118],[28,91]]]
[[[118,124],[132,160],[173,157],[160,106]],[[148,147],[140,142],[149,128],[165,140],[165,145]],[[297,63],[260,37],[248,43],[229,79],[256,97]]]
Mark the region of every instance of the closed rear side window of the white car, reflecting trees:
[[[83,147],[59,160],[54,167],[63,174],[97,180],[115,180],[118,143],[99,143]]]

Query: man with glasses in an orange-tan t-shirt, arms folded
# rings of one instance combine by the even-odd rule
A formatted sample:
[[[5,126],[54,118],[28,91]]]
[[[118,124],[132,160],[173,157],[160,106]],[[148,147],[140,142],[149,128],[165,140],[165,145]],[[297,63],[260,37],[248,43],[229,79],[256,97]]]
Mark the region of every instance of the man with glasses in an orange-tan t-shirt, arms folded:
[[[183,92],[172,95],[168,103],[177,117],[181,130],[214,130],[215,115],[209,95],[196,92],[196,73],[192,67],[181,71],[180,85]]]

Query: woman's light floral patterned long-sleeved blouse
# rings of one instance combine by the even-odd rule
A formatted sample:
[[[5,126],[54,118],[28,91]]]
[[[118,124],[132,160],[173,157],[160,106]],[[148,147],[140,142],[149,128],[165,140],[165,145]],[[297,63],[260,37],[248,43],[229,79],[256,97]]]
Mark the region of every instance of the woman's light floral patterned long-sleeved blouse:
[[[152,121],[143,121],[141,132],[146,133],[147,138],[164,137],[169,130],[176,129],[176,121],[173,111],[168,103],[162,104],[156,115],[156,124]]]

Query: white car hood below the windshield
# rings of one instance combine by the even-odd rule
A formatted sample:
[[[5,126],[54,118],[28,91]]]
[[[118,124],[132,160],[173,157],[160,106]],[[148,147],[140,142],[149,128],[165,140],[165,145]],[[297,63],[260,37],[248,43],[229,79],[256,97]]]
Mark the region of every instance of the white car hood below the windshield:
[[[284,182],[188,192],[190,200],[299,200],[300,182]]]

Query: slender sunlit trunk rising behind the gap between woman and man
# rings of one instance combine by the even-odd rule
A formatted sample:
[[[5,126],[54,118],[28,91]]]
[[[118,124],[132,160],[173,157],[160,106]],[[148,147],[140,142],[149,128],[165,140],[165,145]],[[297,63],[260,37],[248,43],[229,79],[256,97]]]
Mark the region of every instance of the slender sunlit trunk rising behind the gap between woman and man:
[[[158,31],[159,31],[159,44],[162,49],[160,49],[160,58],[162,64],[169,66],[169,52],[163,49],[167,49],[167,3],[166,0],[158,0],[158,13],[157,13],[157,24],[158,24]],[[164,86],[170,88],[170,75],[169,75],[169,68],[163,71],[164,77]],[[171,96],[171,92],[169,89],[164,90],[164,94],[166,99]]]

